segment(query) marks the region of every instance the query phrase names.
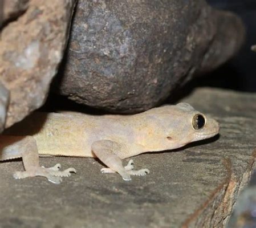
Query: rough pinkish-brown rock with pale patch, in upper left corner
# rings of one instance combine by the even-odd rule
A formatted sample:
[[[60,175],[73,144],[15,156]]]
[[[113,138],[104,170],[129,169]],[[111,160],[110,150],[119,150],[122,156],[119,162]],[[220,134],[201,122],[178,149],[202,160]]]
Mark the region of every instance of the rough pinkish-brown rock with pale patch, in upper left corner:
[[[10,90],[6,127],[43,104],[66,47],[74,3],[30,0],[25,13],[2,29],[0,80]]]

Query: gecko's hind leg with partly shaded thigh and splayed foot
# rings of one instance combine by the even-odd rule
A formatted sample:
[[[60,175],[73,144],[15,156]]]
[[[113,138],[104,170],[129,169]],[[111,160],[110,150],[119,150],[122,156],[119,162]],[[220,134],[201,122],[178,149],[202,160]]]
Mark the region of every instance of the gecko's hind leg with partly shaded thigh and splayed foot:
[[[15,172],[14,178],[42,176],[55,184],[62,182],[61,177],[70,176],[76,172],[74,168],[60,171],[60,164],[52,168],[39,166],[39,155],[36,141],[31,136],[0,136],[0,161],[22,157],[24,172]]]

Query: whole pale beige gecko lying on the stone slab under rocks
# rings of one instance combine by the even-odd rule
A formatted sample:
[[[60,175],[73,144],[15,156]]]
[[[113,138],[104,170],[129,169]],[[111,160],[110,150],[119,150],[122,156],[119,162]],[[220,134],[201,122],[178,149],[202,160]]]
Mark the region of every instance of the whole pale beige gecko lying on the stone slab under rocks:
[[[34,113],[8,129],[0,137],[0,160],[22,157],[24,172],[15,178],[43,176],[59,183],[74,168],[60,171],[39,166],[41,156],[97,157],[124,180],[145,175],[148,169],[133,169],[133,161],[122,159],[145,152],[180,148],[193,141],[208,139],[219,132],[216,120],[207,118],[186,103],[153,108],[136,115],[94,116],[77,112]]]

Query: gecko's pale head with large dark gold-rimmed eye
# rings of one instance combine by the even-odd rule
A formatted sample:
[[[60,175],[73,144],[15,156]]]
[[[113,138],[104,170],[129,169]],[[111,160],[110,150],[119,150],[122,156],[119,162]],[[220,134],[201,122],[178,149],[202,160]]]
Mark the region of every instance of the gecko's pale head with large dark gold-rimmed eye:
[[[175,149],[208,139],[217,135],[220,130],[216,120],[196,111],[187,103],[165,105],[156,108],[153,113],[157,129],[155,139],[162,145],[161,149]]]

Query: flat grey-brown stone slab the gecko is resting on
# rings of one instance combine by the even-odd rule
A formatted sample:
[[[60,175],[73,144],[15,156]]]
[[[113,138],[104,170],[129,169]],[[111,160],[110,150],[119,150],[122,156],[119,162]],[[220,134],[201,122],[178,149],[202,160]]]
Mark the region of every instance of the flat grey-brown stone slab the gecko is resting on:
[[[146,177],[124,182],[101,174],[92,158],[40,158],[78,173],[54,185],[14,180],[22,162],[0,163],[2,227],[225,227],[249,180],[256,148],[256,94],[198,89],[184,101],[221,124],[220,136],[164,153],[133,158]],[[124,161],[127,162],[128,160]]]

